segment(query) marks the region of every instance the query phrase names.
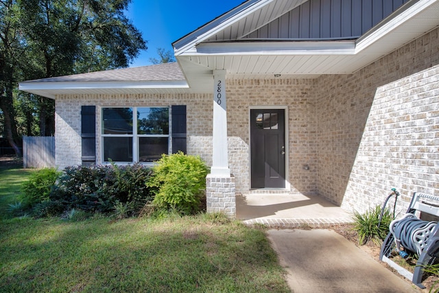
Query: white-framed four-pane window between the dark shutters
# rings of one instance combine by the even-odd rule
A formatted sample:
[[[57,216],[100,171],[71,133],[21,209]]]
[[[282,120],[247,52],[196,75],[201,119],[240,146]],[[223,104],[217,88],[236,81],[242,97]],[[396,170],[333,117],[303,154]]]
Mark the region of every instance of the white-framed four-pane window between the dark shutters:
[[[102,108],[103,162],[154,162],[169,153],[169,108]]]

